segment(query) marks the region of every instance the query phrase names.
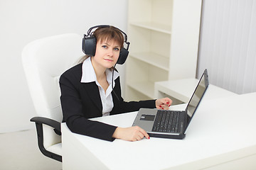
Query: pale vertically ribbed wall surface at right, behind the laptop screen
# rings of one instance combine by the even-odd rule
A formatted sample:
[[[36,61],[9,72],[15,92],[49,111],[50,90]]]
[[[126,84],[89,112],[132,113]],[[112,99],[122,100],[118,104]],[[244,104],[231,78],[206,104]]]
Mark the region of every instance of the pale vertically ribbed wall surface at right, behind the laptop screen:
[[[238,94],[256,91],[256,0],[203,0],[198,74]]]

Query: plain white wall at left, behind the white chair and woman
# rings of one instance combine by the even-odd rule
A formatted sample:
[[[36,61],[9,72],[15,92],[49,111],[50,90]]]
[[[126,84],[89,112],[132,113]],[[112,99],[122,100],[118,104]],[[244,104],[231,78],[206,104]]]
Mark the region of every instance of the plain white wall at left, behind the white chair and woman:
[[[127,0],[0,1],[0,133],[35,126],[29,121],[36,113],[21,64],[23,47],[50,35],[83,35],[100,24],[126,31]],[[124,79],[124,66],[117,69]]]

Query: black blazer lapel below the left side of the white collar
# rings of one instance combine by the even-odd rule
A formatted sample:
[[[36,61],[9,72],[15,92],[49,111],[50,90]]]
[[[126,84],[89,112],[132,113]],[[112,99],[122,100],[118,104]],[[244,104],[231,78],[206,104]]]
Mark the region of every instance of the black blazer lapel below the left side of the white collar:
[[[87,95],[92,99],[92,102],[95,103],[95,106],[97,106],[100,113],[102,113],[102,102],[100,99],[100,91],[97,84],[95,84],[95,82],[91,82],[82,83],[82,85],[85,88]]]

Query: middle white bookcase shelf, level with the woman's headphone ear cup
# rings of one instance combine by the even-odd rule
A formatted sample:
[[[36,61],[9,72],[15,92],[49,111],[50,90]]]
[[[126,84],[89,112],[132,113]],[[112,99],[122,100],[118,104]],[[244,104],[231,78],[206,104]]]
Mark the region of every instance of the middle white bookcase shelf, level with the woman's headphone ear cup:
[[[157,55],[154,52],[134,52],[130,54],[130,57],[134,57],[137,60],[141,60],[142,62],[146,62],[169,72],[169,59],[167,57]]]

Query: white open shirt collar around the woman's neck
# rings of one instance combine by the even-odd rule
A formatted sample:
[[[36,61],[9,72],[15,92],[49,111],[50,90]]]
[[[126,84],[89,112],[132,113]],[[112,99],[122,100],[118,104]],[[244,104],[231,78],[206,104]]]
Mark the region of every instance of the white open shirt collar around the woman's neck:
[[[92,67],[92,62],[91,62],[90,58],[91,57],[88,57],[82,63],[81,83],[90,83],[90,82],[93,82],[93,81],[97,81],[95,70]],[[112,70],[111,69],[106,69],[106,76],[107,76],[107,82],[109,84],[112,84]],[[117,79],[117,77],[119,77],[119,73],[114,70],[113,80]]]

